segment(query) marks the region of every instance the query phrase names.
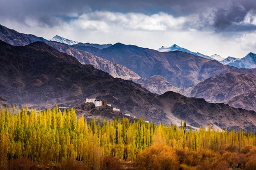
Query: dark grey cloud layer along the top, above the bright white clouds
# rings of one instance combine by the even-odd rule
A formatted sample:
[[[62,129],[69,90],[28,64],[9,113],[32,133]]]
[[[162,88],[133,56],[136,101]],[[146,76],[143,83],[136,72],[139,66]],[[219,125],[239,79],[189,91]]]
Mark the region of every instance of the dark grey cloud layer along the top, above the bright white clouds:
[[[61,25],[61,20],[69,22],[70,14],[84,14],[89,11],[141,12],[146,15],[162,11],[175,18],[199,15],[199,20],[184,24],[184,27],[198,31],[252,31],[253,25],[247,25],[245,28],[239,25],[251,10],[256,11],[254,0],[1,0],[0,22],[10,19],[22,23],[31,17],[42,25],[54,27]]]

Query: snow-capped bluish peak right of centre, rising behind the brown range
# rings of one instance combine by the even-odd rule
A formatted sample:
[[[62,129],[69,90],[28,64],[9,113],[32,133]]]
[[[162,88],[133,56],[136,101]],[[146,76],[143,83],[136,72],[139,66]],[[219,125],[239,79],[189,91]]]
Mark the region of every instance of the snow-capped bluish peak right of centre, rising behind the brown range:
[[[190,50],[188,49],[185,49],[185,48],[182,48],[176,44],[170,46],[170,47],[167,47],[167,46],[162,46],[161,48],[158,49],[159,52],[173,52],[173,51],[181,51],[181,52],[185,52],[185,53],[190,53],[190,54],[193,54],[195,56],[200,56],[200,57],[204,57],[204,58],[207,58],[207,59],[212,59],[212,57],[209,57],[209,56],[205,56],[204,54],[201,54],[201,53],[195,53],[195,52],[191,52]]]

